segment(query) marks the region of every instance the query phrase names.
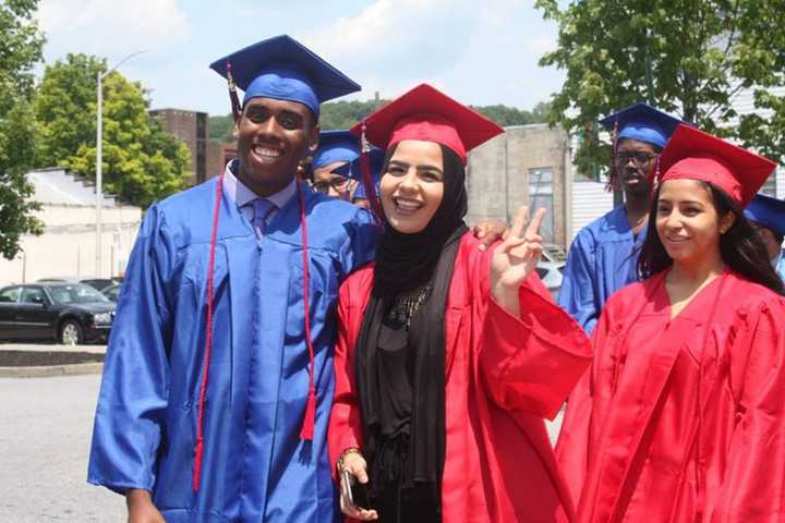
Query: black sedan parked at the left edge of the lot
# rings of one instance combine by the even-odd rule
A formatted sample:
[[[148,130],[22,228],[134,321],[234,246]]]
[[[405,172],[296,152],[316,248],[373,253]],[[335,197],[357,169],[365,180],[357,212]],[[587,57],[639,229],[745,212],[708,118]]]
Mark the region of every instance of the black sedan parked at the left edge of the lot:
[[[114,303],[84,283],[33,283],[0,289],[0,341],[105,341]]]

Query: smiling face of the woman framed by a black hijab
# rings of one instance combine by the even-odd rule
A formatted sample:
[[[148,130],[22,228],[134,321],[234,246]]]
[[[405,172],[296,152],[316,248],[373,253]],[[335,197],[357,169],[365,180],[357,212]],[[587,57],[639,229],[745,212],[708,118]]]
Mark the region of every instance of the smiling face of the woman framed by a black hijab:
[[[434,142],[400,142],[379,184],[382,208],[396,231],[424,230],[444,197],[444,160]]]

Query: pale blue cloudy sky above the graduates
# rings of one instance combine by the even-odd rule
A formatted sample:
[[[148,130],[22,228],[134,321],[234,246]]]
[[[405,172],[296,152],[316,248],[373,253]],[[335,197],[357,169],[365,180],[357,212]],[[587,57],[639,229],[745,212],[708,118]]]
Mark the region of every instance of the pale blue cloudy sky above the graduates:
[[[40,0],[47,63],[86,52],[150,89],[154,108],[229,112],[207,64],[288,33],[363,86],[392,98],[428,82],[473,105],[530,109],[564,73],[538,66],[557,28],[533,0]]]

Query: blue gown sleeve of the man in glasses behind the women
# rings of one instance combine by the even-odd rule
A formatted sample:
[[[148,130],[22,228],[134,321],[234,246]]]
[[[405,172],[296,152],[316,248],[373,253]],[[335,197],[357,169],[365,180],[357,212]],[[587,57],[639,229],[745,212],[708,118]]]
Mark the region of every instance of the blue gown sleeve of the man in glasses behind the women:
[[[590,234],[579,233],[572,242],[564,279],[559,290],[558,304],[565,308],[587,335],[592,333],[600,318],[594,291],[594,240]]]

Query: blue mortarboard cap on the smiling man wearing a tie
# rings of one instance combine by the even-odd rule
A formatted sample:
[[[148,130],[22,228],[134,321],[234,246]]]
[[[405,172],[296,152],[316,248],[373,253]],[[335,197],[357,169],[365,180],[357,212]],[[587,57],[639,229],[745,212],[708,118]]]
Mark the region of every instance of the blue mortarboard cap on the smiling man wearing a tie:
[[[319,104],[360,90],[360,85],[288,35],[276,36],[216,60],[210,69],[251,98],[298,101],[318,117]]]

